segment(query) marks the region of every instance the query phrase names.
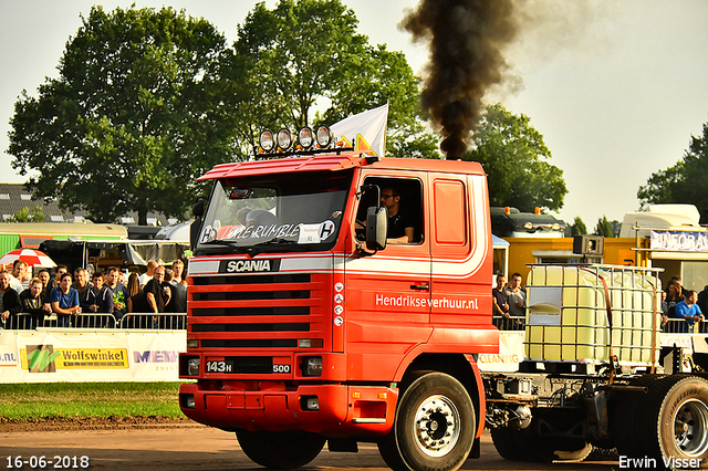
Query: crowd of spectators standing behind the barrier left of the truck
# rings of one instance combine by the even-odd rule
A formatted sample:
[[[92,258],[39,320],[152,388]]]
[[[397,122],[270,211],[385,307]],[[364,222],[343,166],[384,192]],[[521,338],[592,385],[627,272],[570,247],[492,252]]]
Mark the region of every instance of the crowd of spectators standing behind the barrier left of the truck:
[[[77,268],[72,275],[65,265],[59,265],[53,276],[41,269],[31,278],[22,260],[15,260],[12,271],[0,271],[0,328],[35,328],[48,325],[48,321],[59,327],[115,327],[124,317],[128,322],[135,317],[129,324],[134,327],[160,328],[165,327],[162,314],[186,312],[187,281],[181,260],[171,269],[150,260],[146,273],[139,278],[131,273],[127,280],[117,266],[91,275]],[[152,322],[140,321],[138,325],[137,314],[145,313],[153,314]],[[29,322],[13,323],[13,316]]]

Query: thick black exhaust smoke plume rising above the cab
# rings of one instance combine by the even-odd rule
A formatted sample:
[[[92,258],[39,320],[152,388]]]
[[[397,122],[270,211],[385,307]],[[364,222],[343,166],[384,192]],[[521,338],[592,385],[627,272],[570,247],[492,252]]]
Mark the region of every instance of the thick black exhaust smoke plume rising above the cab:
[[[511,0],[421,0],[402,25],[430,42],[423,108],[440,128],[440,149],[462,157],[479,124],[487,88],[508,69],[501,49],[517,32]]]

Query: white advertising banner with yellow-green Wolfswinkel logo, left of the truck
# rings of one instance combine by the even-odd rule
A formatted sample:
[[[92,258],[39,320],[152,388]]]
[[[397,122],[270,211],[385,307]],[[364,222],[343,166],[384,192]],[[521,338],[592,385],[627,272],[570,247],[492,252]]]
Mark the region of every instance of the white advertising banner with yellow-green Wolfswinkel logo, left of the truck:
[[[0,331],[0,383],[177,381],[185,331]]]

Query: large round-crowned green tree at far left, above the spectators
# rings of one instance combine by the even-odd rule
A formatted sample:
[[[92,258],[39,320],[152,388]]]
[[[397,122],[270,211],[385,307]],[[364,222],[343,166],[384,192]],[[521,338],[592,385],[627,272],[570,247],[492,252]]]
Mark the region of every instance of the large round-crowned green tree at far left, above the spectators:
[[[232,156],[238,62],[204,19],[170,8],[82,17],[59,77],[14,105],[9,153],[35,197],[96,221],[179,217],[195,178]]]

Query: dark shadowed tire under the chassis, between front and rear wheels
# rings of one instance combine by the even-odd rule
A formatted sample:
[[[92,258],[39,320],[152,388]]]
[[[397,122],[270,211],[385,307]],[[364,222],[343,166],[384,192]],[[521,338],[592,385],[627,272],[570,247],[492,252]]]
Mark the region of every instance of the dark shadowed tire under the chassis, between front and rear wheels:
[[[490,435],[499,456],[509,461],[576,462],[593,451],[592,444],[583,440],[541,438],[530,428],[501,427],[491,429]]]

